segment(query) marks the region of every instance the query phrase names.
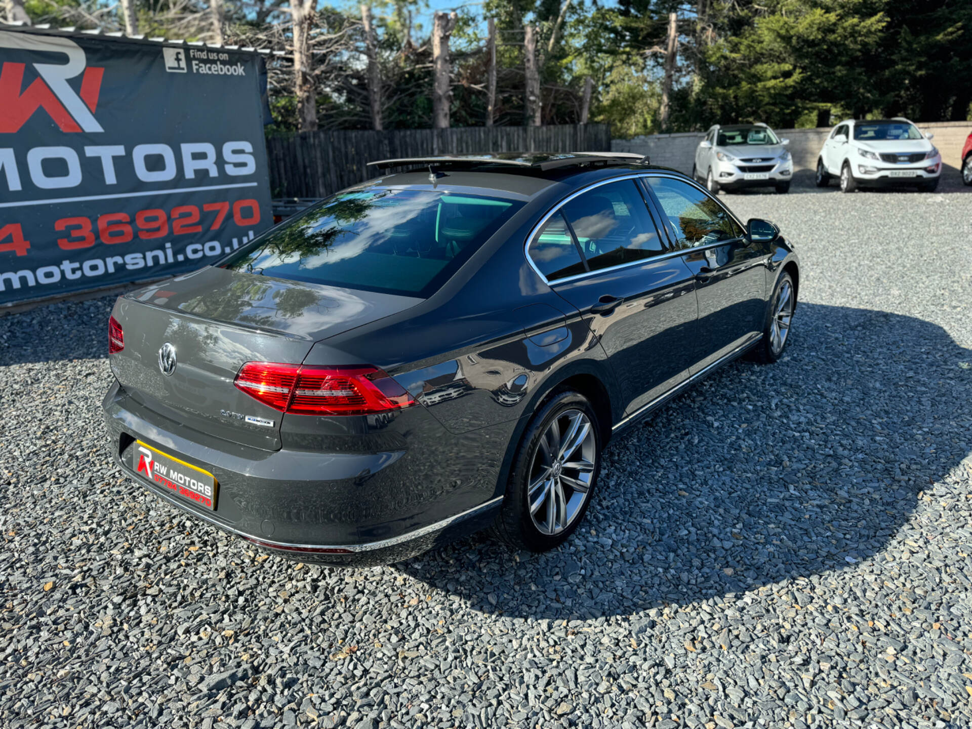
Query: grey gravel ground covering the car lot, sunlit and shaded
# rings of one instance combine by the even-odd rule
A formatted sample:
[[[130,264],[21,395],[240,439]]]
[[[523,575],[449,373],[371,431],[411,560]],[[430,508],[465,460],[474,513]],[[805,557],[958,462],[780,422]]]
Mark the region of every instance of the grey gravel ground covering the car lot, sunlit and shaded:
[[[723,199],[799,246],[788,355],[616,439],[546,555],[261,556],[110,465],[111,300],[0,319],[0,724],[967,729],[972,195]]]

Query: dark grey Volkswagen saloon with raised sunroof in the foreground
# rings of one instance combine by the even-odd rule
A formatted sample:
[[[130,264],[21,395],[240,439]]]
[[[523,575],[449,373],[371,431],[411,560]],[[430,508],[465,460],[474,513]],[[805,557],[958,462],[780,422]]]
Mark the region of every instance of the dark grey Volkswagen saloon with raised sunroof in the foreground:
[[[611,434],[779,359],[799,269],[690,178],[616,155],[394,159],[225,260],[121,296],[121,468],[261,548],[395,562],[493,525],[544,550]]]

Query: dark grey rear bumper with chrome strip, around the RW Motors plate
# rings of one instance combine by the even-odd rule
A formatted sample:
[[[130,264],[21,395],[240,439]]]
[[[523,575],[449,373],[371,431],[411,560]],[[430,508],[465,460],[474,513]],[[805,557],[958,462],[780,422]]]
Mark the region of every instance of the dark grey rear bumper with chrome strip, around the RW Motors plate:
[[[369,453],[266,451],[217,440],[167,420],[117,383],[103,408],[126,475],[208,524],[302,562],[397,562],[488,526],[502,504],[502,455],[455,458],[456,448],[469,443],[457,443],[420,406],[399,414],[407,441],[389,437],[398,449]],[[131,460],[136,440],[212,473],[215,509],[138,475]],[[457,470],[462,464],[469,472]]]

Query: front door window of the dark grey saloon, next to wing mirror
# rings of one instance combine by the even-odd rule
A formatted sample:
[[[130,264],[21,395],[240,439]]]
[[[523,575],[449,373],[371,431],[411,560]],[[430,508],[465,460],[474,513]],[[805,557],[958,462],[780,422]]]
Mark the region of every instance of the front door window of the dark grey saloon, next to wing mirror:
[[[743,228],[710,195],[688,183],[668,177],[649,177],[678,249],[732,240]]]

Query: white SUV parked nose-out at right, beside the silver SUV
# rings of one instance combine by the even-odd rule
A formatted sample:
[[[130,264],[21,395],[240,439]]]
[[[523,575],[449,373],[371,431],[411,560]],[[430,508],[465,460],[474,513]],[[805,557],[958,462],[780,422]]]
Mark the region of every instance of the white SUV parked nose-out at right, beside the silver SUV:
[[[942,174],[942,156],[928,141],[933,136],[902,117],[841,121],[816,160],[816,187],[839,177],[844,192],[916,185],[933,191]]]

